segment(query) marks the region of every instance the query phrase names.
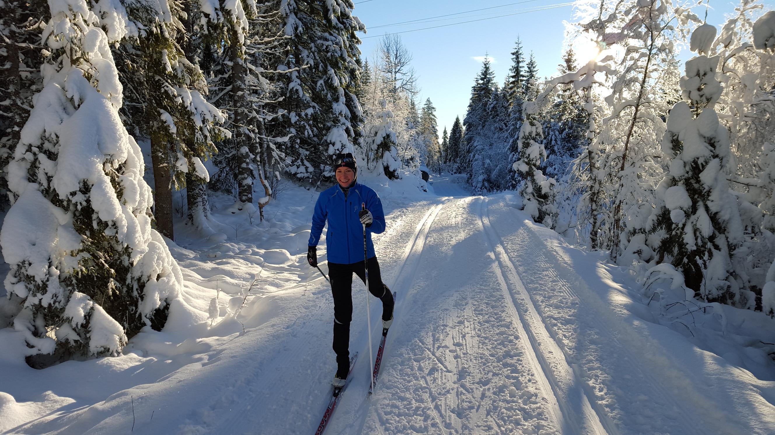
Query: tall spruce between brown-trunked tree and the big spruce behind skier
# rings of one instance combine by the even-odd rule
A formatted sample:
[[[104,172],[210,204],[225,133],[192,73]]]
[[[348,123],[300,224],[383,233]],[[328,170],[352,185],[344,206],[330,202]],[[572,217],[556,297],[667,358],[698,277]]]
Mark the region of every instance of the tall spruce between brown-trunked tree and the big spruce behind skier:
[[[262,8],[259,11],[259,7]],[[274,138],[265,132],[265,120],[273,118],[265,105],[270,99],[270,84],[261,75],[261,63],[276,56],[277,43],[282,38],[263,32],[277,11],[269,5],[258,6],[253,0],[239,2],[213,1],[203,14],[210,23],[205,41],[212,59],[208,62],[208,85],[219,92],[211,102],[227,117],[226,128],[231,135],[219,142],[219,153],[214,157],[218,172],[211,186],[236,194],[238,207],[252,209],[253,188],[260,180],[265,195],[258,201],[260,209],[270,199],[270,190],[264,170],[267,159],[281,159]],[[288,71],[285,71],[288,74]]]

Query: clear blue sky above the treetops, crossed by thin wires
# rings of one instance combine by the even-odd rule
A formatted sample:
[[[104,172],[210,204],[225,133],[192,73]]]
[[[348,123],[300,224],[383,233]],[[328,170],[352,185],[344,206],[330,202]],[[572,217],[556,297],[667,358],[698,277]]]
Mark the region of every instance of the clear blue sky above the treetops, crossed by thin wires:
[[[421,29],[431,26],[442,26],[454,22],[485,19],[456,26],[446,26],[438,29],[418,30],[402,33],[404,45],[414,55],[413,65],[419,76],[418,84],[422,88],[419,102],[430,98],[436,106],[436,117],[439,119],[439,135],[446,126],[452,127],[456,115],[460,120],[466,112],[470,88],[474,77],[481,68],[480,59],[485,53],[494,59],[493,68],[499,84],[511,67],[511,52],[519,36],[525,53],[532,51],[536,55],[540,77],[556,73],[557,64],[565,50],[565,25],[563,21],[573,21],[570,5],[537,12],[526,12],[536,9],[563,5],[561,0],[532,0],[522,4],[514,0],[356,0],[355,15],[367,27],[367,34],[361,35],[363,44],[361,51],[366,57],[373,57],[379,45],[379,37],[384,33],[398,33],[406,30]],[[718,2],[715,11],[708,14],[708,22],[719,27],[723,23],[725,13],[733,12],[736,2]],[[439,15],[465,12],[472,9],[491,8],[479,12],[440,17],[435,22],[374,28],[406,22],[415,19],[425,19]],[[704,14],[697,9],[695,13]],[[523,12],[523,13],[519,13]],[[526,12],[526,13],[524,13]],[[500,18],[487,19],[495,15],[508,15]],[[487,14],[487,15],[482,15]],[[476,16],[474,16],[476,15]],[[465,17],[456,18],[455,17]],[[474,59],[474,58],[478,58]]]

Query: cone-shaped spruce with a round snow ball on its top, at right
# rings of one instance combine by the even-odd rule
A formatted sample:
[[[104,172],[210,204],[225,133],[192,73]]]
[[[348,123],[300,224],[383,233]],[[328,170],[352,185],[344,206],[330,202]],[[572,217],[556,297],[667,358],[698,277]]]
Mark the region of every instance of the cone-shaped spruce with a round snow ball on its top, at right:
[[[658,262],[670,262],[701,300],[753,308],[741,292],[731,255],[742,242],[738,201],[729,189],[733,170],[729,131],[714,106],[722,95],[716,74],[719,57],[708,57],[715,27],[699,26],[691,37],[698,56],[687,60],[682,96],[667,119],[662,142],[669,162],[656,190],[650,218]]]

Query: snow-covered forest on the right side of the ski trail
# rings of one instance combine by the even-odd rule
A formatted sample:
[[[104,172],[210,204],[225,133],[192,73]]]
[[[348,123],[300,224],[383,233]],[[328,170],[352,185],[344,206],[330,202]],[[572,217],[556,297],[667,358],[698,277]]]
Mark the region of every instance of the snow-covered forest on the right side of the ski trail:
[[[518,190],[536,222],[649,282],[670,277],[687,299],[775,316],[766,7],[742,0],[717,35],[675,2],[577,4],[587,19],[575,35],[598,56],[568,49],[558,74],[539,79],[517,39],[502,86],[485,59],[443,167],[465,173],[476,194]]]

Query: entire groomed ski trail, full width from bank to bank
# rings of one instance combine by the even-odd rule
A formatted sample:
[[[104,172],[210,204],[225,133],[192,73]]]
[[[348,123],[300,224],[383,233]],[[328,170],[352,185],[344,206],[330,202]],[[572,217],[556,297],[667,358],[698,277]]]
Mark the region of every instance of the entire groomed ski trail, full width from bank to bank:
[[[617,285],[584,265],[605,265],[583,253],[581,266],[567,258],[563,249],[572,248],[515,210],[508,195],[419,200],[388,219],[375,244],[398,300],[380,383],[368,398],[373,361],[359,361],[327,433],[698,434],[753,426],[707,396],[712,373],[671,364],[663,342],[601,299],[611,293],[594,286]],[[350,351],[362,355],[364,291],[355,280]],[[198,415],[208,430],[191,433],[314,433],[334,369],[329,292],[316,279],[314,297],[284,300],[292,315],[236,339],[259,365],[246,365],[232,383],[228,418]],[[374,304],[372,331],[380,313]],[[255,349],[251,333],[264,341]],[[222,400],[213,408],[226,408]],[[277,413],[287,419],[267,420]]]

